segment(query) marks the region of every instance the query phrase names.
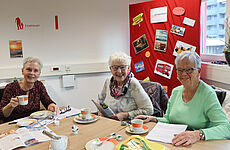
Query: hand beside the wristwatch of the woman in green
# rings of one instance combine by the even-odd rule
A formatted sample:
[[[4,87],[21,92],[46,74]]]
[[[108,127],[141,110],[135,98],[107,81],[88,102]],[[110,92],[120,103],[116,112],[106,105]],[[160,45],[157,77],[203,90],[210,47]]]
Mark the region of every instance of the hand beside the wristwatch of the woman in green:
[[[185,131],[180,134],[175,134],[172,144],[175,146],[188,146],[200,140],[200,131]]]

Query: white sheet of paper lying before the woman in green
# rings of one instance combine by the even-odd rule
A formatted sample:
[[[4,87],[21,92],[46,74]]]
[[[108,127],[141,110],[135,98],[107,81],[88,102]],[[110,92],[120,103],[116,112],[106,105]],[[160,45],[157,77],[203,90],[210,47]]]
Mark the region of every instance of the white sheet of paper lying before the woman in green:
[[[167,124],[158,122],[145,138],[151,141],[172,143],[174,134],[181,133],[185,131],[186,128],[187,125]]]

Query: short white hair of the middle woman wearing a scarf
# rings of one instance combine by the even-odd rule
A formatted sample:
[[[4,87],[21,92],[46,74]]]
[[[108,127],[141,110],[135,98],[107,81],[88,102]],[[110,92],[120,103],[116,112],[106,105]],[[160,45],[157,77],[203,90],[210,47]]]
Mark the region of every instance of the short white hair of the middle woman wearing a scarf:
[[[109,57],[109,66],[113,64],[113,62],[119,61],[124,63],[125,65],[131,64],[131,57],[125,54],[124,52],[115,52]]]

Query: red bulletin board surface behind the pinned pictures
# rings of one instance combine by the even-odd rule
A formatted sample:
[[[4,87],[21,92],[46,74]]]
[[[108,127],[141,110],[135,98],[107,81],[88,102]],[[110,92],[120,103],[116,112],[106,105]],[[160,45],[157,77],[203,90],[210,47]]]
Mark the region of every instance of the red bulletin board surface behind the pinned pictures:
[[[174,64],[176,57],[173,55],[173,52],[175,45],[179,40],[195,46],[196,52],[200,54],[200,5],[201,0],[153,0],[149,2],[129,5],[130,56],[132,57],[131,71],[134,73],[137,79],[144,80],[146,77],[149,77],[150,81],[159,82],[163,86],[168,86],[169,96],[171,95],[172,89],[180,85],[180,82],[177,80],[176,67]],[[167,21],[162,23],[151,23],[151,9],[165,6],[167,6]],[[173,9],[176,7],[184,8],[184,14],[173,14]],[[143,13],[143,15],[141,13]],[[135,17],[138,15],[139,21],[141,22],[135,25],[134,22],[137,22],[137,20],[135,20]],[[192,27],[183,24],[184,17],[195,20],[194,26]],[[138,19],[138,17],[136,19]],[[185,28],[184,35],[180,36],[171,33],[170,30],[172,28],[172,25]],[[166,52],[154,50],[156,30],[168,31]],[[137,53],[137,49],[134,48],[133,42],[144,34],[148,42],[148,47]],[[150,52],[149,57],[146,57],[146,52]],[[154,73],[157,59],[172,64],[174,66],[171,72],[170,79]],[[144,70],[136,71],[135,64],[140,61],[143,61]]]

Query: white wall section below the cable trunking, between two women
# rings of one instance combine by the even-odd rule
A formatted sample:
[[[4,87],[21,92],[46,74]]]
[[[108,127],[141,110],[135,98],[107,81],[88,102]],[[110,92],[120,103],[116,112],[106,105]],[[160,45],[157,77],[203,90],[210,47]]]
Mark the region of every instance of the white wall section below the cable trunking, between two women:
[[[42,77],[40,79],[45,80],[44,83],[49,95],[59,106],[87,107],[96,111],[91,99],[97,100],[105,78],[109,75],[110,73],[75,75],[75,87],[70,88],[63,88],[61,76]]]

